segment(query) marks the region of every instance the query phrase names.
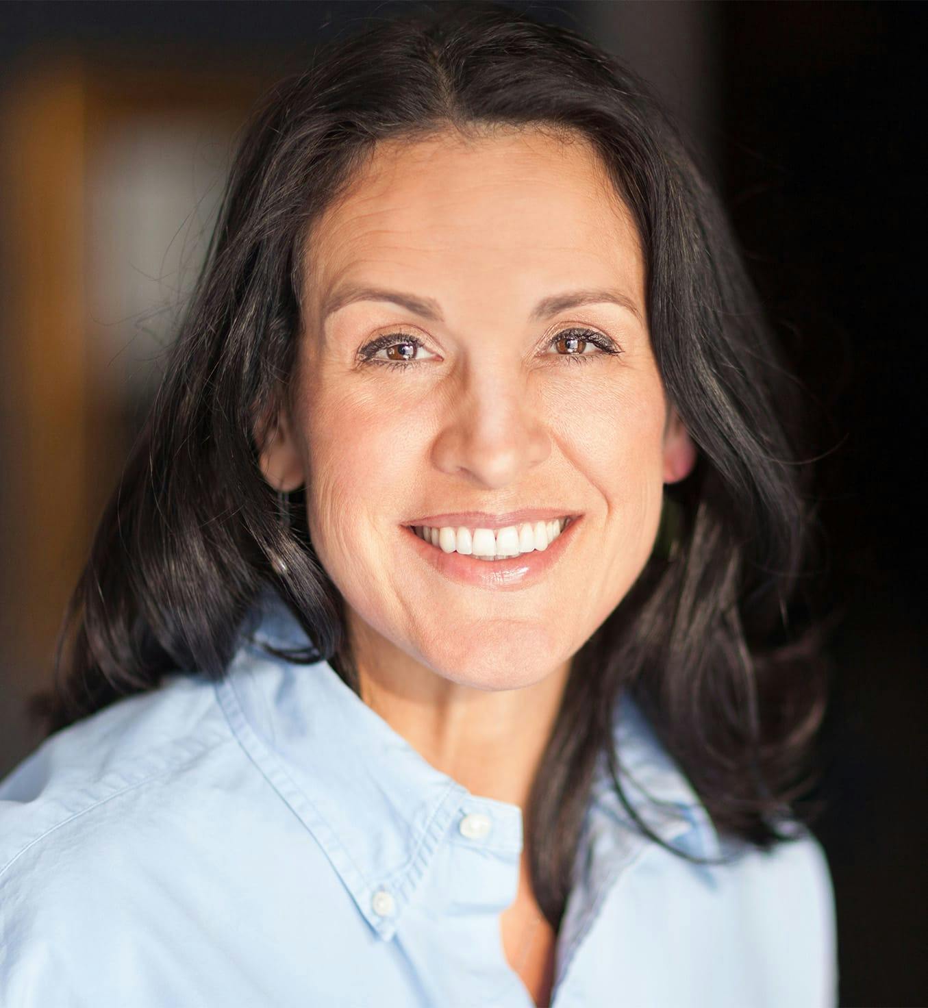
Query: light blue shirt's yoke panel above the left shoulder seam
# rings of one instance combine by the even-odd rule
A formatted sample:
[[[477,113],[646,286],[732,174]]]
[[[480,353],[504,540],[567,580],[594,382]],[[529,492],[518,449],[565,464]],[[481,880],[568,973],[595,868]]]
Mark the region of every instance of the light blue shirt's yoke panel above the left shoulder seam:
[[[24,857],[125,824],[127,803],[232,744],[213,683],[180,674],[49,736],[0,781],[0,885]]]

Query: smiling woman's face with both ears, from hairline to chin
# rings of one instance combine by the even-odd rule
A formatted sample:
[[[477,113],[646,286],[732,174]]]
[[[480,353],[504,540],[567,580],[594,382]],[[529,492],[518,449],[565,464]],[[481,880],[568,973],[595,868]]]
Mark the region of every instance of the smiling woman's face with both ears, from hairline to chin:
[[[663,483],[694,462],[627,209],[583,141],[391,141],[316,222],[306,268],[290,403],[262,464],[275,487],[306,483],[353,639],[478,688],[539,681],[626,595]],[[550,301],[588,291],[616,299]],[[522,509],[580,517],[562,542],[492,562],[407,527]],[[481,520],[448,525],[468,526]]]

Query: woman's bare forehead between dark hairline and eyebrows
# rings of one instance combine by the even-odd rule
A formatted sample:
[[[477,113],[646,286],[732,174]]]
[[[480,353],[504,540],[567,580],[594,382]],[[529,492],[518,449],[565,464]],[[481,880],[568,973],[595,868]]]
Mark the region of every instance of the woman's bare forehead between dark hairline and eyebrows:
[[[643,297],[637,230],[601,159],[538,130],[383,141],[307,241],[316,307],[346,279],[533,299],[602,281]]]

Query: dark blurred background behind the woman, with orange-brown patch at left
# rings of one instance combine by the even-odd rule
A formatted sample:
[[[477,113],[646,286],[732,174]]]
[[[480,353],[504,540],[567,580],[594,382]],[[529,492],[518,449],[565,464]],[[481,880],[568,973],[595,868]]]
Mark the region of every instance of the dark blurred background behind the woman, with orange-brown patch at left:
[[[252,103],[397,3],[0,4],[0,775]],[[400,4],[399,6],[402,6]],[[807,393],[833,697],[815,832],[841,1005],[925,1005],[926,7],[525,2],[649,79]],[[921,391],[920,391],[921,390]]]

